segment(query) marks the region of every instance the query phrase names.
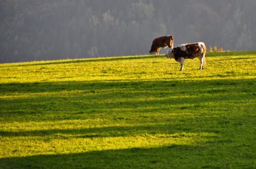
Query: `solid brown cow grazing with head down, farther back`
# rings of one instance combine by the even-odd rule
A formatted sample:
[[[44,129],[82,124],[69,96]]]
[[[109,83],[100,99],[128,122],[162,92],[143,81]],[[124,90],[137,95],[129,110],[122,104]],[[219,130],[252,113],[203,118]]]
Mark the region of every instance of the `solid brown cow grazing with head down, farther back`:
[[[172,36],[161,36],[156,38],[152,42],[150,54],[159,54],[160,48],[173,48],[173,37]]]

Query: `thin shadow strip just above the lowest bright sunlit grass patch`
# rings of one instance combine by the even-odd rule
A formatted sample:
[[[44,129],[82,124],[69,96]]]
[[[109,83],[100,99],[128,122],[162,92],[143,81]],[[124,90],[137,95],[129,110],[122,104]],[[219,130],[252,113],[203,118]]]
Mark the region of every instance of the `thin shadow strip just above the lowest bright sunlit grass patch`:
[[[191,121],[184,118],[183,121]],[[57,124],[56,124],[57,125]],[[0,131],[1,137],[46,137],[47,139],[71,139],[79,138],[98,138],[98,137],[129,137],[129,136],[145,136],[155,134],[168,134],[168,137],[181,138],[191,137],[184,132],[193,134],[194,132],[219,133],[216,129],[200,129],[195,125],[190,127],[191,122],[184,125],[180,121],[177,123],[164,123],[154,125],[136,125],[136,126],[110,126],[110,127],[89,127],[82,129],[41,129],[33,131]],[[196,129],[195,129],[196,128]],[[209,136],[210,137],[210,136]],[[215,136],[212,136],[215,137]],[[44,138],[42,138],[44,139]]]

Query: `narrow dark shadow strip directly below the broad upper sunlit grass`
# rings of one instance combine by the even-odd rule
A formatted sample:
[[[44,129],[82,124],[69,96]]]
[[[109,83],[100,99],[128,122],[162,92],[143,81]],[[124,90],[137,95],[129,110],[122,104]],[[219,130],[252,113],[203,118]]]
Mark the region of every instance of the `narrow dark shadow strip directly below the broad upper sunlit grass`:
[[[213,76],[209,76],[213,77]],[[201,76],[199,76],[201,78]],[[247,84],[255,84],[255,79],[243,80],[100,80],[90,82],[68,81],[68,82],[11,82],[0,83],[0,94],[5,93],[51,93],[61,91],[83,90],[88,93],[96,91],[104,91],[109,89],[131,89],[137,91],[139,89],[154,91],[162,91],[162,93],[173,91],[174,93],[187,93],[190,89],[199,91],[201,88],[211,89],[212,87],[223,86],[222,89],[228,89],[231,85],[236,85],[238,89],[247,88]]]

